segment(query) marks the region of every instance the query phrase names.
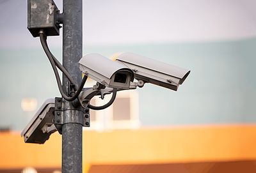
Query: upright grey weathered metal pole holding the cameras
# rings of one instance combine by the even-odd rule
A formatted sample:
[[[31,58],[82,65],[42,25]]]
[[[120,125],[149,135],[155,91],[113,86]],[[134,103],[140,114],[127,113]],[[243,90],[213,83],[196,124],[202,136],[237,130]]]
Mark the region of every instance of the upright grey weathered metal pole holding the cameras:
[[[83,0],[63,0],[63,66],[77,84],[81,83],[78,61],[83,51]],[[67,78],[63,76],[63,89],[67,91]],[[63,103],[62,126],[62,172],[82,172],[82,112],[75,110],[72,103]]]

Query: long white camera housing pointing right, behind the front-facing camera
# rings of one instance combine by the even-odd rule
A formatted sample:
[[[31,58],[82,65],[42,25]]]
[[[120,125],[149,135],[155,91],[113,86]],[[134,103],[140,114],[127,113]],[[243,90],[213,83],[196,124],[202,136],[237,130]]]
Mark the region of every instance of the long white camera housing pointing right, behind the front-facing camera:
[[[132,53],[120,54],[116,61],[130,68],[134,72],[135,79],[174,91],[177,91],[179,85],[184,82],[190,73],[190,70]]]

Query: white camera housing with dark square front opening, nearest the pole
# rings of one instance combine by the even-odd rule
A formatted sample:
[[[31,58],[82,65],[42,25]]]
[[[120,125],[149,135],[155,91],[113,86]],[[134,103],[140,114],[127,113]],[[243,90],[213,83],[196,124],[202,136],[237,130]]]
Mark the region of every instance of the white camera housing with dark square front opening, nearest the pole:
[[[79,64],[84,75],[106,87],[129,89],[134,80],[134,73],[130,68],[100,54],[87,54],[80,59]]]

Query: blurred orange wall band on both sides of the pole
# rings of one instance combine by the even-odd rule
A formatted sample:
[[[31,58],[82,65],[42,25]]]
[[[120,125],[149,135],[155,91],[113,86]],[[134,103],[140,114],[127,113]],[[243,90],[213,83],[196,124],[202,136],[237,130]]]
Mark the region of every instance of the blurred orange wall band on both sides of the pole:
[[[195,126],[83,132],[84,164],[143,164],[256,159],[256,125]],[[25,144],[0,133],[0,169],[61,167],[61,135]]]

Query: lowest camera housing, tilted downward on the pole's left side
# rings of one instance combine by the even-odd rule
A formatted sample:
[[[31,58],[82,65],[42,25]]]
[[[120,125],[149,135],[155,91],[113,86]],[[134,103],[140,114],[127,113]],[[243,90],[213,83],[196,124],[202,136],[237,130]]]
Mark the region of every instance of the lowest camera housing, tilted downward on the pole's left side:
[[[21,132],[26,143],[44,144],[51,133],[56,132],[53,124],[54,99],[48,99],[36,112],[29,124]]]

